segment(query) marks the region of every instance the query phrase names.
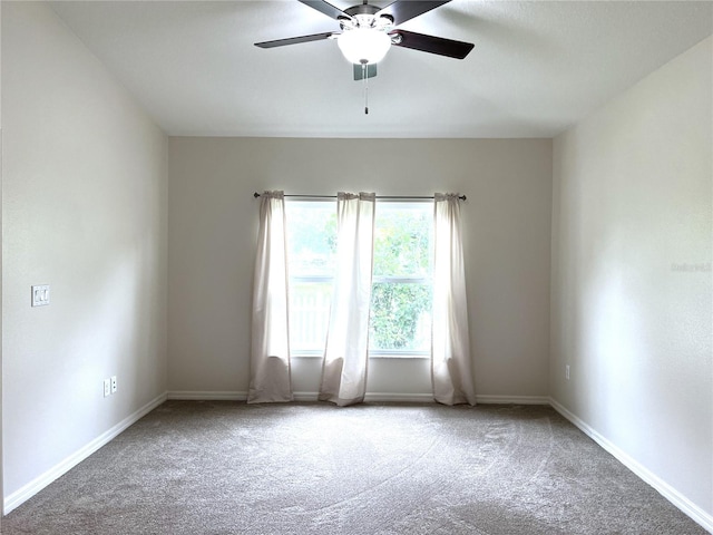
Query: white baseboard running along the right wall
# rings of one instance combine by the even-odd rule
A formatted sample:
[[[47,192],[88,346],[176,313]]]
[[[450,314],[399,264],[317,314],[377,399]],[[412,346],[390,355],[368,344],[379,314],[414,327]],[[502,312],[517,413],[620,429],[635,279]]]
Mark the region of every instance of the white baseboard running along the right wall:
[[[549,398],[549,405],[561,416],[567,418],[572,424],[587,435],[592,440],[602,446],[605,450],[612,454],[619,463],[626,466],[629,470],[636,474],[641,479],[654,487],[664,498],[678,507],[683,513],[688,515],[693,521],[697,522],[704,529],[713,534],[713,515],[706,513],[701,507],[695,505],[688,498],[683,496],[678,490],[673,488],[666,481],[661,479],[654,473],[646,467],[642,466],[638,461],[632,458],[624,450],[619,449],[607,438],[602,436],[596,429],[590,427],[579,417],[567,410],[557,400]]]

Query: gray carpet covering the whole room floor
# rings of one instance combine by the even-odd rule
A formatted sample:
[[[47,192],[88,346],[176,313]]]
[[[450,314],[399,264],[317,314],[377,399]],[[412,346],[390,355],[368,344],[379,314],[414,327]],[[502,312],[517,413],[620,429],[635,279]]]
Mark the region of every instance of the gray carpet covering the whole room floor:
[[[548,407],[169,401],[2,518],[32,534],[705,534]]]

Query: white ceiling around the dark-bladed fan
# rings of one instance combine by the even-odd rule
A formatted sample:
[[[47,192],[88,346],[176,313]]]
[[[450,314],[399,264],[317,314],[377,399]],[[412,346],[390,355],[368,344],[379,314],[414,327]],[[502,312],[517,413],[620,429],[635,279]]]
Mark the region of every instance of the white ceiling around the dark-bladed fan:
[[[551,137],[713,33],[709,1],[453,0],[401,28],[475,42],[470,56],[393,47],[364,115],[335,41],[253,46],[338,29],[296,0],[52,7],[176,136]]]

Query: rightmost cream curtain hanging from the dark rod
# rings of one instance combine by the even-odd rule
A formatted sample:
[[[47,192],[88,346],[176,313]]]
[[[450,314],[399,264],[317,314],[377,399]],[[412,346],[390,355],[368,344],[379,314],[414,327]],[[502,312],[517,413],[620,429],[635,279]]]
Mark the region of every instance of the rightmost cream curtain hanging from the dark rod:
[[[445,405],[476,405],[458,195],[434,195],[433,234],[433,398]]]

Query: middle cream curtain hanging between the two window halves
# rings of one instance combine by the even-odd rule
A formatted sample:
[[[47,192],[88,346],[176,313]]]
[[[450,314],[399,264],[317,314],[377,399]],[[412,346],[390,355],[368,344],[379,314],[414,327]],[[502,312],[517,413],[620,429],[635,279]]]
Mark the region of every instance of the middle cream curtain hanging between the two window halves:
[[[339,406],[367,392],[375,202],[373,193],[336,196],[338,272],[319,399]]]

